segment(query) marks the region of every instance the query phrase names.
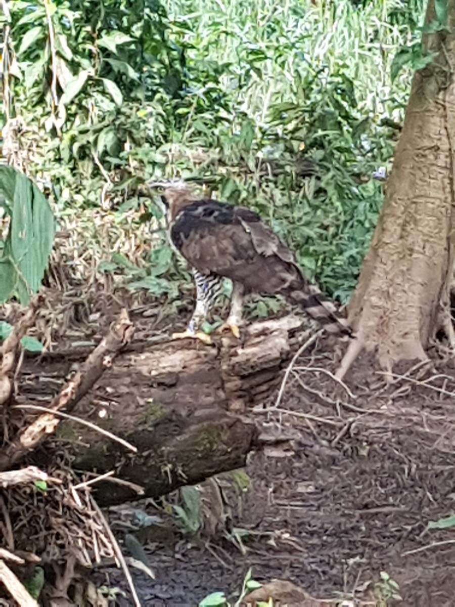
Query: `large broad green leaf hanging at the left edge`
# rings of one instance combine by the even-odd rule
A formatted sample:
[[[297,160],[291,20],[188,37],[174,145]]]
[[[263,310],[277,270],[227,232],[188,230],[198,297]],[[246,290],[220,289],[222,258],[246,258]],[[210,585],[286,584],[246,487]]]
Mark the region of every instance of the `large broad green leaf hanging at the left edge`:
[[[54,238],[49,203],[23,173],[0,166],[0,207],[9,218],[1,242],[0,303],[10,297],[27,304],[36,293],[47,268]]]

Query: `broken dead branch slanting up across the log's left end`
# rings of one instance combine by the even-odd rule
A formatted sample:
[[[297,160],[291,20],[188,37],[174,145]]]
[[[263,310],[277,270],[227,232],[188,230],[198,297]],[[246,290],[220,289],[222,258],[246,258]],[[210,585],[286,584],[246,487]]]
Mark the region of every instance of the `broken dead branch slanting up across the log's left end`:
[[[122,310],[118,319],[110,327],[109,333],[103,337],[98,346],[81,365],[79,371],[62,388],[61,392],[52,399],[49,409],[58,411],[66,407],[73,409],[77,402],[90,390],[101,377],[103,371],[112,365],[116,354],[127,344],[133,334],[127,311]],[[43,413],[35,421],[16,436],[4,449],[0,450],[0,471],[7,470],[17,464],[45,436],[55,432],[59,417],[53,413]]]

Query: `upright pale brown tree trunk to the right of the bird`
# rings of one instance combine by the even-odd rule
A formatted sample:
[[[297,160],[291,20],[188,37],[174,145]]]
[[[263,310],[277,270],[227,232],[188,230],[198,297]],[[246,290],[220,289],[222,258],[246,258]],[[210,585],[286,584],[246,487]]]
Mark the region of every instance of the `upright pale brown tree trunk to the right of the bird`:
[[[428,2],[426,23],[436,19]],[[415,73],[385,201],[349,304],[357,332],[342,377],[362,348],[377,348],[391,371],[402,359],[426,359],[443,330],[454,345],[450,282],[454,260],[455,0],[448,31],[424,36],[433,61]]]

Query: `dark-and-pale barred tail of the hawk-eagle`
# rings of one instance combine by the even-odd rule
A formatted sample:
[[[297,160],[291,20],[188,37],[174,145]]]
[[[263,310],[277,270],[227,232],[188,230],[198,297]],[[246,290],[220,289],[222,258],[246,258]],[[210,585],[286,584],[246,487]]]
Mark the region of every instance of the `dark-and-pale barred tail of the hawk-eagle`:
[[[315,285],[305,285],[303,289],[289,288],[283,293],[288,299],[298,304],[309,316],[317,320],[328,333],[344,333],[350,335],[351,329],[346,320],[339,316],[335,304],[327,299]]]

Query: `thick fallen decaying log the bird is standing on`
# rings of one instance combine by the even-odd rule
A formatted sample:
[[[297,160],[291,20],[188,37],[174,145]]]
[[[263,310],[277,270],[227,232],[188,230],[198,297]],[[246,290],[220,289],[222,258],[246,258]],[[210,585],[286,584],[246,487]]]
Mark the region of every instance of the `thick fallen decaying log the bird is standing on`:
[[[215,337],[212,347],[192,340],[136,342],[120,354],[72,413],[126,439],[138,453],[75,422],[62,421],[57,430],[75,458],[75,469],[114,470],[126,481],[96,483],[98,503],[157,497],[243,466],[256,430],[234,412],[262,402],[274,390],[297,348],[301,324],[293,316],[258,322],[246,330],[243,344],[232,337]],[[85,356],[75,351],[25,361],[21,399],[33,403],[39,398],[42,404]]]

